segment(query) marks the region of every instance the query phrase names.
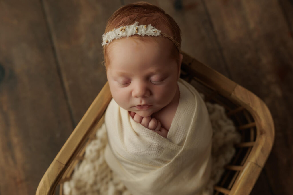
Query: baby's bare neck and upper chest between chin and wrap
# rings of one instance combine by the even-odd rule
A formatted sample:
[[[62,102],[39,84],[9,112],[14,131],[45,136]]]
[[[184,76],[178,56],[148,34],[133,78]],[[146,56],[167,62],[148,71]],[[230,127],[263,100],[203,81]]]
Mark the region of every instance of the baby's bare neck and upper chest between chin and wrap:
[[[161,122],[161,126],[164,127],[167,131],[169,131],[172,120],[175,116],[179,104],[179,98],[180,92],[177,84],[177,90],[172,101],[167,106],[151,115],[151,117],[158,119]]]

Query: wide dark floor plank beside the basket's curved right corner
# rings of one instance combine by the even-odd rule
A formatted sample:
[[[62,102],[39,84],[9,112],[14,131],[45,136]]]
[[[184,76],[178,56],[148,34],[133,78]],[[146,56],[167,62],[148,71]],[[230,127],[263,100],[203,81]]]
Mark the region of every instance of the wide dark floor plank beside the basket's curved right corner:
[[[272,191],[266,193],[290,194],[293,41],[282,10],[273,0],[205,3],[232,80],[263,99],[274,119],[275,144],[264,168]]]

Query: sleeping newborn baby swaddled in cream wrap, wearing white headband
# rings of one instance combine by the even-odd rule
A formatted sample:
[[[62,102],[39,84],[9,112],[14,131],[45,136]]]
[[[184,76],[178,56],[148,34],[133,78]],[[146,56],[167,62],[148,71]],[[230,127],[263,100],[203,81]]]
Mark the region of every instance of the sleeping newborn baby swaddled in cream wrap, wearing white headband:
[[[180,33],[161,8],[139,2],[118,9],[103,35],[113,96],[105,160],[133,194],[201,194],[209,179],[212,128],[179,78]]]

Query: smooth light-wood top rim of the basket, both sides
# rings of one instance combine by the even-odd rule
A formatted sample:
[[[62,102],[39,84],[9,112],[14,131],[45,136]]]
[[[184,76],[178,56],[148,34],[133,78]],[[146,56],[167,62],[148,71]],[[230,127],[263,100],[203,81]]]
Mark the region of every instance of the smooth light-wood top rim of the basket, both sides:
[[[240,171],[239,179],[236,180],[230,191],[230,194],[239,194],[241,190],[242,192],[245,190],[249,194],[270,154],[274,142],[275,128],[268,107],[248,89],[184,52],[181,67],[192,71],[199,79],[207,81],[207,84],[214,86],[227,99],[239,102],[255,120],[257,130],[255,144],[246,163],[243,165],[243,170]],[[43,175],[36,194],[54,194],[62,175],[86,142],[93,131],[93,127],[102,118],[111,99],[112,95],[107,81]],[[252,170],[253,177],[250,172]],[[241,179],[246,180],[245,182],[240,182]]]

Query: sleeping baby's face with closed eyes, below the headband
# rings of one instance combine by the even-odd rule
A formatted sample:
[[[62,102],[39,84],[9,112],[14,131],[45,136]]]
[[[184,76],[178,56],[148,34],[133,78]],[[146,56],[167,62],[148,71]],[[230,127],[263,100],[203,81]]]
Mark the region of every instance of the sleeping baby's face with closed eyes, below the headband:
[[[182,60],[182,54],[179,63],[170,58],[173,43],[124,37],[111,44],[107,78],[116,103],[143,117],[167,106],[178,90]]]

